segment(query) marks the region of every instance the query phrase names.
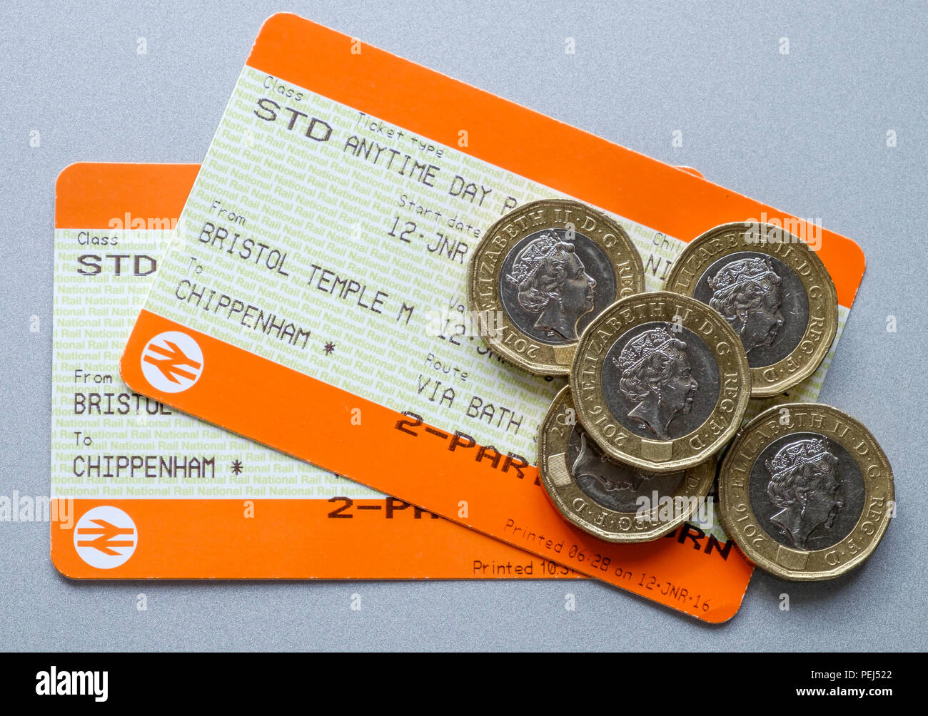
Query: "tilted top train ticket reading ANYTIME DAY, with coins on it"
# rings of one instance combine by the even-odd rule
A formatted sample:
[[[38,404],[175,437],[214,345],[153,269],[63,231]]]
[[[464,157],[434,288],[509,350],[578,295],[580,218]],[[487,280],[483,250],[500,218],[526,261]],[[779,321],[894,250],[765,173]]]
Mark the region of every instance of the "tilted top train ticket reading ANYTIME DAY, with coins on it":
[[[537,556],[727,620],[751,568],[724,533],[688,524],[652,543],[613,545],[574,530],[535,469],[537,427],[562,381],[522,373],[467,335],[470,251],[499,216],[548,197],[621,222],[650,289],[685,242],[715,224],[795,221],[276,15],[238,78],[123,353],[122,378]],[[809,238],[837,284],[843,319],[863,256],[818,228]],[[827,364],[793,397],[814,398]],[[198,509],[193,521],[206,530],[224,518],[210,503]],[[290,534],[281,517],[280,534]],[[157,558],[171,552],[162,547]],[[288,565],[308,549],[292,544],[267,558]]]

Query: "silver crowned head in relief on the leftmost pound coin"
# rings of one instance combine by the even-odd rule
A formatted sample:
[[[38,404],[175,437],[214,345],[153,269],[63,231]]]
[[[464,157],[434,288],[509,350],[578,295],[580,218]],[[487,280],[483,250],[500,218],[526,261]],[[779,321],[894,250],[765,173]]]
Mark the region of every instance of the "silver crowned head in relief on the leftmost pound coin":
[[[593,310],[596,279],[574,249],[553,232],[544,232],[515,257],[506,281],[517,291],[519,305],[534,318],[533,328],[549,339],[577,339],[577,322]]]

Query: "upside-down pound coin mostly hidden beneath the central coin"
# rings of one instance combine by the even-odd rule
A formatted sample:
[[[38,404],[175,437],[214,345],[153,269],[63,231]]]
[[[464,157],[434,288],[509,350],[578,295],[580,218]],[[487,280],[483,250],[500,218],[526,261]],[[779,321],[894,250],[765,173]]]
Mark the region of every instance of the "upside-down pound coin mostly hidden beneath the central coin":
[[[538,472],[548,498],[581,530],[606,542],[646,542],[690,518],[715,479],[715,458],[663,474],[614,462],[577,422],[564,388],[541,424]]]

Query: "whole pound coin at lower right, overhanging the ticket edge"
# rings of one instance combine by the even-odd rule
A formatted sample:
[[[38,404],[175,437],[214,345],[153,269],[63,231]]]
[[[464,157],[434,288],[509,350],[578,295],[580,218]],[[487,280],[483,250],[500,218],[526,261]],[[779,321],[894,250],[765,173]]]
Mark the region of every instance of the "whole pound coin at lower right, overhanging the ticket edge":
[[[787,580],[854,569],[895,510],[893,470],[870,430],[830,405],[774,405],[731,444],[719,515],[755,565]]]

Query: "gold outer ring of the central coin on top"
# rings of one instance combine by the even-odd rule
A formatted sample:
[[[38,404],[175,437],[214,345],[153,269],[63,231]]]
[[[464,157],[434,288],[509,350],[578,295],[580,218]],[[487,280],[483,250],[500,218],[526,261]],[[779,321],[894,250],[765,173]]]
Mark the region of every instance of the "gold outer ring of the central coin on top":
[[[673,439],[651,440],[623,426],[602,388],[603,364],[612,345],[632,328],[654,322],[696,334],[712,352],[719,373],[711,413]],[[673,472],[699,465],[737,432],[751,398],[751,372],[741,339],[715,309],[689,296],[653,291],[616,301],[586,326],[574,354],[570,386],[580,424],[609,457],[649,472]]]

